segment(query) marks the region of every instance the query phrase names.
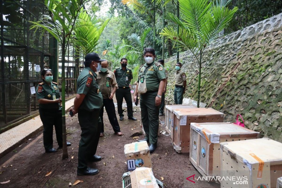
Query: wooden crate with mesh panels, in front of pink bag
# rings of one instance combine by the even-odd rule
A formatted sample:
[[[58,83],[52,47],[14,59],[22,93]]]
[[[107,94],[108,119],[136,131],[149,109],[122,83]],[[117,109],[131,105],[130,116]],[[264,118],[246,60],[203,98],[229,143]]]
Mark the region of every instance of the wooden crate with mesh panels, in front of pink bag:
[[[231,122],[191,123],[190,130],[190,161],[202,176],[220,176],[220,142],[259,138],[259,132]]]

